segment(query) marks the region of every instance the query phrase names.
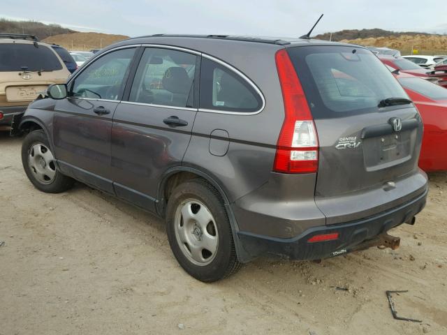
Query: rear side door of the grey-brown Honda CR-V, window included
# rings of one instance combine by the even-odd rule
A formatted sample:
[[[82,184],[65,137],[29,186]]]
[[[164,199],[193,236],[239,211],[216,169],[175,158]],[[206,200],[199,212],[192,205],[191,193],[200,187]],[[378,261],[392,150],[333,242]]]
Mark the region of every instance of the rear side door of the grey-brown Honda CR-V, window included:
[[[155,210],[163,172],[180,165],[196,117],[198,53],[147,47],[112,126],[115,193]],[[196,97],[195,97],[196,96]]]

